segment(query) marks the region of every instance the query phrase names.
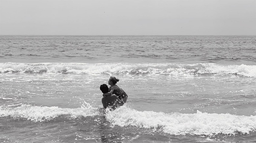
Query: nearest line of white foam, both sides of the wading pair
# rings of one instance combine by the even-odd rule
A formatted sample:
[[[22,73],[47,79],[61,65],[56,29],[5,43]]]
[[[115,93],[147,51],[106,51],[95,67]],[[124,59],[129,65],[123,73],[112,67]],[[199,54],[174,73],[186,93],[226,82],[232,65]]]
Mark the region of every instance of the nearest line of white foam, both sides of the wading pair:
[[[48,122],[61,116],[67,119],[102,116],[99,108],[81,106],[80,108],[59,108],[57,106],[22,105],[15,108],[0,107],[0,117],[27,119],[34,122]],[[137,111],[121,106],[116,110],[106,110],[106,120],[112,127],[133,126],[164,132],[170,135],[235,135],[256,131],[256,116],[231,114],[209,114],[197,111],[194,114]]]

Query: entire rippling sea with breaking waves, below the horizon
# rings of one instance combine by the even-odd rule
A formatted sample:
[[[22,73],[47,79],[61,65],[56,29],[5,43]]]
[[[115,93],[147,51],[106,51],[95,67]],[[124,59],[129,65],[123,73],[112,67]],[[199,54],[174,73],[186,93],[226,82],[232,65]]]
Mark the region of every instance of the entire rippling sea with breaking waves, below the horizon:
[[[0,142],[256,142],[255,36],[0,36]],[[103,109],[110,76],[128,100]]]

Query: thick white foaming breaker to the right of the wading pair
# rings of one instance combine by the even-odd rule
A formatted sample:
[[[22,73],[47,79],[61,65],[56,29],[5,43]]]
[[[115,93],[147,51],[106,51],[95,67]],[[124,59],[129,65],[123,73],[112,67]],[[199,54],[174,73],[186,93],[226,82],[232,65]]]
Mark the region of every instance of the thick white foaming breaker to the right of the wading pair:
[[[106,119],[113,126],[131,125],[171,135],[235,135],[256,131],[256,116],[208,114],[200,111],[195,114],[166,114],[120,107],[107,112]]]

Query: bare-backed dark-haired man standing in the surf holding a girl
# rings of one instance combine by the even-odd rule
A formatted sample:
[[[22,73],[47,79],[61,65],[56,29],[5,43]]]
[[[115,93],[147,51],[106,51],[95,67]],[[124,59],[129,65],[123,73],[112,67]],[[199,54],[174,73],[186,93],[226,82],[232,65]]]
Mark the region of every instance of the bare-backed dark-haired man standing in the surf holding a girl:
[[[100,90],[104,94],[108,92],[109,88],[106,84],[103,84],[103,85],[100,85]],[[102,97],[101,102],[104,108],[110,107],[112,109],[116,109],[117,104],[119,104],[120,106],[124,104],[124,102],[120,100],[117,97],[117,95],[108,95],[108,96]]]

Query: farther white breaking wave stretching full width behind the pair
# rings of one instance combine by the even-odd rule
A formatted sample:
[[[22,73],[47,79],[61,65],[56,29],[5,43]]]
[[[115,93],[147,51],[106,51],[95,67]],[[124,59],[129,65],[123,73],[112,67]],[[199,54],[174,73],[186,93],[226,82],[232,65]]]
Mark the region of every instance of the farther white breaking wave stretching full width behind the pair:
[[[130,63],[0,63],[0,73],[121,73],[133,75],[227,75],[235,74],[256,77],[256,65],[218,65],[214,63],[198,64],[130,64]]]

